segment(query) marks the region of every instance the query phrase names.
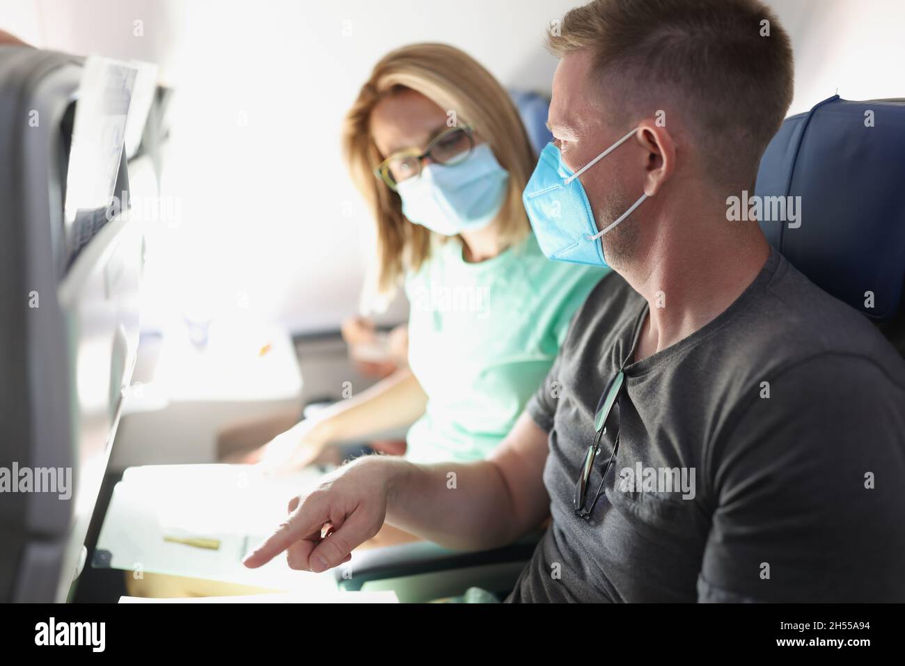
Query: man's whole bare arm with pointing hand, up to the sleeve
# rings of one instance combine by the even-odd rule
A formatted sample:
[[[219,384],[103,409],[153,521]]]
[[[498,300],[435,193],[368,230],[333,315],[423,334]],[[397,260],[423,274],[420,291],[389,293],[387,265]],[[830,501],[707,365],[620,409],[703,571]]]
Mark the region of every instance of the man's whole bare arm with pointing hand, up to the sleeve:
[[[324,571],[345,562],[386,519],[443,547],[510,544],[548,516],[547,452],[547,433],[522,414],[485,461],[416,465],[395,456],[364,456],[330,473],[309,495],[292,499],[289,519],[244,564],[262,566],[286,550],[292,568]]]

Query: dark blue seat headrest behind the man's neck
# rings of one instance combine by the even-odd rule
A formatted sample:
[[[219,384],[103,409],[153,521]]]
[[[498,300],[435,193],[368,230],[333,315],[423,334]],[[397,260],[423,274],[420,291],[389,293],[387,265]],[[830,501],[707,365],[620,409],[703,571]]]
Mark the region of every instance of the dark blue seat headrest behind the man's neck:
[[[899,311],[905,282],[905,100],[834,95],[786,119],[761,158],[755,194],[801,197],[797,228],[760,223],[769,243],[795,268],[870,319],[885,321]]]

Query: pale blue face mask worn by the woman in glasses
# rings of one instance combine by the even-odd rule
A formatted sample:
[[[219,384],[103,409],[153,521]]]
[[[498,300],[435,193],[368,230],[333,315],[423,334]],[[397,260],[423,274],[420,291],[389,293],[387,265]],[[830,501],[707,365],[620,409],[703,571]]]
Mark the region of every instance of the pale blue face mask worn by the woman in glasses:
[[[497,162],[491,147],[482,143],[459,164],[424,166],[421,176],[404,180],[396,191],[410,222],[454,236],[491,224],[508,186],[509,172]]]

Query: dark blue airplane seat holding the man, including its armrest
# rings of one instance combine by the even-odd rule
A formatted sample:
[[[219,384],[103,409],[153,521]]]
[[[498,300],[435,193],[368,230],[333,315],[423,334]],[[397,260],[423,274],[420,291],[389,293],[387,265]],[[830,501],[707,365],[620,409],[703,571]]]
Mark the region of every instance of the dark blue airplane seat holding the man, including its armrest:
[[[801,224],[764,220],[767,240],[811,281],[876,322],[900,352],[905,351],[903,155],[905,100],[834,96],[786,119],[761,159],[755,192],[801,196]],[[429,543],[377,548],[353,556],[351,576],[339,567],[337,582],[350,590],[395,589],[404,602],[462,595],[470,586],[502,596],[531,557],[536,539],[481,553]]]

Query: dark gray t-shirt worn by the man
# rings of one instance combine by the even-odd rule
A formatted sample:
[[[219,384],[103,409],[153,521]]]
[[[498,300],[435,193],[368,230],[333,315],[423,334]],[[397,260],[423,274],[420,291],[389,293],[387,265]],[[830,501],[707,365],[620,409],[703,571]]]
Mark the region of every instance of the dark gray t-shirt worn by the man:
[[[905,361],[885,338],[776,251],[719,317],[634,363],[646,307],[605,277],[529,402],[553,522],[509,600],[905,601]],[[624,361],[614,469],[582,519]],[[612,451],[605,434],[592,497]]]

